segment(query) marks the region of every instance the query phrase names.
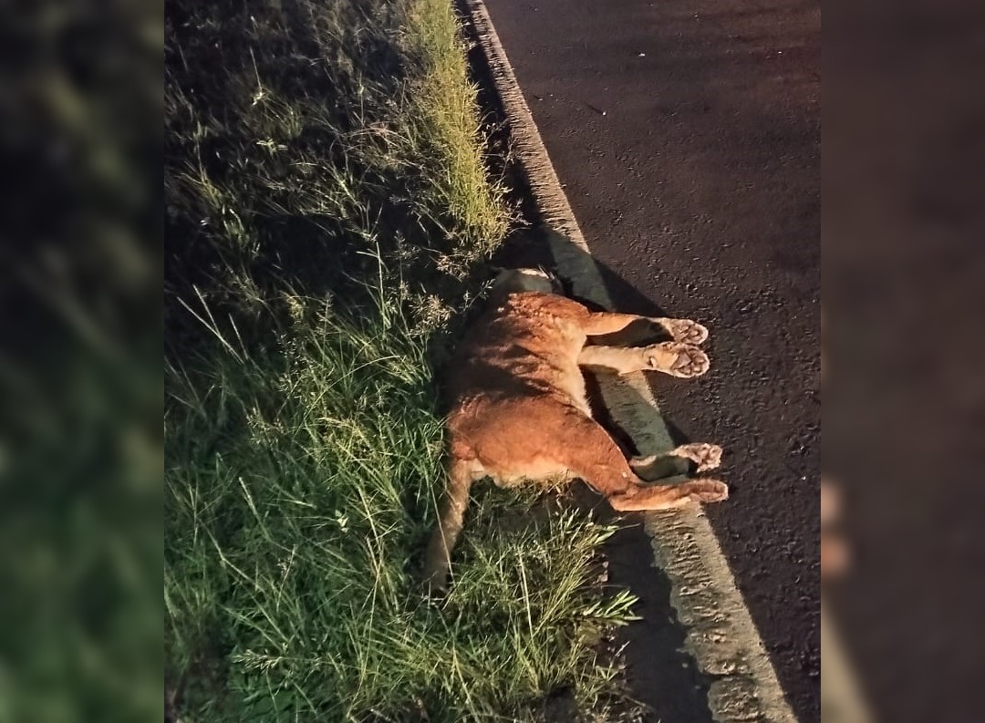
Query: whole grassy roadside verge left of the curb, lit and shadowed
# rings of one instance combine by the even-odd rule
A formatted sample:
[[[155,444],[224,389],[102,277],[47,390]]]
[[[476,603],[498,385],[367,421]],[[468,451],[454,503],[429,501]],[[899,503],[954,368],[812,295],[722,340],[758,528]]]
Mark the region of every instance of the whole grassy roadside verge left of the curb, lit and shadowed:
[[[615,716],[610,528],[481,490],[416,585],[434,368],[511,221],[448,2],[174,0],[164,99],[170,714]]]

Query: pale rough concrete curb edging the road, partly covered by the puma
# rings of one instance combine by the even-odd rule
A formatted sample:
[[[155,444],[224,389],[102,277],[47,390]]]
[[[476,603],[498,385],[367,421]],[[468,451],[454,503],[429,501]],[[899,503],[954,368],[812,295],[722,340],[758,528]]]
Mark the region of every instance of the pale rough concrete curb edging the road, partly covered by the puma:
[[[492,71],[513,153],[537,203],[558,270],[571,280],[576,296],[612,308],[486,5],[482,0],[462,0],[462,4]],[[641,373],[619,379],[600,376],[599,385],[613,419],[632,436],[641,454],[673,447]],[[796,718],[707,519],[696,510],[652,513],[646,516],[645,529],[652,541],[654,564],[673,584],[672,603],[687,627],[690,652],[712,679],[708,704],[714,719],[721,723],[794,723]]]

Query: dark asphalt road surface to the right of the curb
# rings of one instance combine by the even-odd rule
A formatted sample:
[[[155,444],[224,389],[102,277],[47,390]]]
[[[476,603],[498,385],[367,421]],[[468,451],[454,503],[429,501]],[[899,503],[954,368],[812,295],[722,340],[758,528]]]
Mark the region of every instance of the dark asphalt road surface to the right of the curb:
[[[732,495],[708,516],[818,721],[820,5],[487,3],[617,307],[711,328],[711,371],[654,389],[682,438],[725,447]]]

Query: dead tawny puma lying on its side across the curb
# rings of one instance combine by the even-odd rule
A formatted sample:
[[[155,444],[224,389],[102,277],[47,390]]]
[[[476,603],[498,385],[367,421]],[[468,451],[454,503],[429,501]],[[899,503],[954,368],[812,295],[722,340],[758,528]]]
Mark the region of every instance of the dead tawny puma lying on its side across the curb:
[[[634,470],[654,459],[626,460],[609,433],[592,420],[579,368],[699,376],[708,370],[708,358],[697,347],[707,338],[707,329],[688,319],[648,318],[674,341],[642,348],[586,346],[589,337],[620,331],[643,317],[593,312],[554,292],[552,278],[544,272],[502,272],[493,284],[490,310],[449,364],[448,483],[424,569],[431,590],[445,585],[469,489],[484,477],[502,487],[580,478],[625,511],[728,497],[728,488],[715,480],[646,485]],[[669,454],[687,457],[704,471],[718,466],[721,448],[686,444]]]

